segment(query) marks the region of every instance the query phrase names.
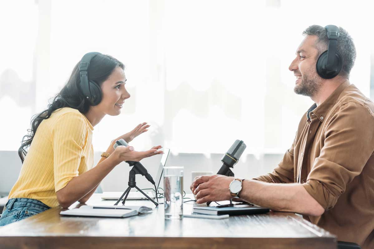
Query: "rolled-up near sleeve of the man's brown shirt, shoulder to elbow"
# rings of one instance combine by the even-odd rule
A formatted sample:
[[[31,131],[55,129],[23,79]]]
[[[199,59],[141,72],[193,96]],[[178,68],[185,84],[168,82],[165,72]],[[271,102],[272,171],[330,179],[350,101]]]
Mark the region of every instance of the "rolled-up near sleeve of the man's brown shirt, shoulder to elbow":
[[[359,103],[346,103],[324,129],[324,146],[303,183],[325,209],[331,209],[354,177],[361,174],[374,150],[374,118]]]

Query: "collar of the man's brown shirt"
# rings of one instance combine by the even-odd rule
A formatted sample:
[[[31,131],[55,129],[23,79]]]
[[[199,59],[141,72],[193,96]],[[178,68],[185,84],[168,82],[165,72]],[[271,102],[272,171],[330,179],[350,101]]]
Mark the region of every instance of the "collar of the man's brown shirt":
[[[323,122],[329,109],[337,102],[340,94],[349,85],[349,81],[344,81],[344,83],[341,83],[321,105],[317,106],[317,104],[314,103],[307,112],[307,118],[318,118],[319,121]]]

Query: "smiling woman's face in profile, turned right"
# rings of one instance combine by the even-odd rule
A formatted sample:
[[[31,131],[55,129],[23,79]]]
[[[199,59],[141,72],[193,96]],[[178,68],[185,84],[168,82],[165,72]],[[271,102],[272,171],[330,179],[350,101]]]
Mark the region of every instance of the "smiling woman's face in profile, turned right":
[[[97,108],[110,116],[119,115],[125,99],[130,97],[125,84],[125,72],[117,66],[109,78],[101,85],[102,99]]]

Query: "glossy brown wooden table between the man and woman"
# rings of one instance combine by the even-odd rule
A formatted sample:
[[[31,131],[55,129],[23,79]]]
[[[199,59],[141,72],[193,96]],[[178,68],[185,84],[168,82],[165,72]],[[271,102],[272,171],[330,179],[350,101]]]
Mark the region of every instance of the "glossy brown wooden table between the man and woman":
[[[114,204],[100,197],[94,194],[87,204]],[[184,213],[194,205],[185,203]],[[0,248],[336,248],[335,236],[292,213],[165,220],[163,208],[129,218],[65,217],[59,215],[63,209],[52,208],[0,227]]]

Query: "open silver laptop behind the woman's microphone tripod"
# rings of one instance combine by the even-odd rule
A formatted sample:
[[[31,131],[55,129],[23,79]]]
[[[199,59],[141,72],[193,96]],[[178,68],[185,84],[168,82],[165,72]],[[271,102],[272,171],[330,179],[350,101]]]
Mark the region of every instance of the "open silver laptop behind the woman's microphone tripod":
[[[162,154],[159,169],[157,171],[157,176],[156,176],[156,178],[154,178],[154,181],[156,182],[157,190],[159,189],[159,186],[160,186],[160,182],[161,182],[162,175],[163,175],[163,167],[165,166],[166,160],[168,159],[170,149],[164,148],[163,151],[164,151],[164,153]],[[156,198],[156,192],[154,192],[154,190],[144,191],[144,193],[147,194],[147,196],[149,196],[153,199]],[[123,192],[103,192],[102,196],[101,196],[101,199],[102,200],[118,200],[119,197],[121,197],[122,194],[123,194]],[[125,197],[122,197],[122,200],[124,198]],[[147,200],[147,197],[145,197],[142,193],[132,192],[132,191],[130,191],[130,193],[127,197],[127,200],[144,200],[144,199]]]

